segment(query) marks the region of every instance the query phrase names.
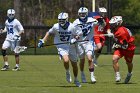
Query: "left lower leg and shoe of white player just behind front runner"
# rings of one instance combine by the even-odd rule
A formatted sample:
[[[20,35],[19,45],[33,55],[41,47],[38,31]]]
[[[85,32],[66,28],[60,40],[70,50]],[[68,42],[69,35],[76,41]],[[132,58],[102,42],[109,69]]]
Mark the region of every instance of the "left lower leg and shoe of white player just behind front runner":
[[[81,80],[82,83],[86,83],[86,77],[84,73],[84,65],[85,65],[85,58],[80,59],[80,71],[81,71]]]

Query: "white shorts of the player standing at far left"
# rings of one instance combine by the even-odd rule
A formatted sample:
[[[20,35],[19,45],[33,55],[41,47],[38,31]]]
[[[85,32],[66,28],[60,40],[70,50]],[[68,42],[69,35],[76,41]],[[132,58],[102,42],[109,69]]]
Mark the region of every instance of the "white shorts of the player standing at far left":
[[[16,46],[19,46],[20,41],[9,41],[9,40],[5,40],[3,45],[2,45],[2,49],[7,49],[7,48],[11,48],[11,51],[14,51]]]

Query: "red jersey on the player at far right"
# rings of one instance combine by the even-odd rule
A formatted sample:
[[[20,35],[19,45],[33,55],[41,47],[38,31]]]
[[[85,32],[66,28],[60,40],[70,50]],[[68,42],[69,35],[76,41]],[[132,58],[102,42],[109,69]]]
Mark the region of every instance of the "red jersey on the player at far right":
[[[128,43],[128,48],[126,50],[134,50],[136,48],[134,45],[134,37],[129,29],[121,26],[114,31],[114,36],[116,42],[123,44],[123,41],[125,40]]]

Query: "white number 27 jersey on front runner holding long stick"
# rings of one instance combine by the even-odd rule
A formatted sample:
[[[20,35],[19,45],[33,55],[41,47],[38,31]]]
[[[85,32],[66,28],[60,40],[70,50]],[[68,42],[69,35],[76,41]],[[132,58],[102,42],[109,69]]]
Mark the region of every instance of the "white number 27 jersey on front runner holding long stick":
[[[66,43],[70,42],[70,40],[75,36],[75,35],[80,35],[82,34],[81,29],[76,28],[72,23],[69,24],[67,29],[63,29],[59,23],[56,23],[53,25],[53,27],[49,30],[49,34],[54,34],[54,44],[57,43]],[[69,44],[61,44],[57,45],[57,47],[60,46],[66,46],[69,47]]]

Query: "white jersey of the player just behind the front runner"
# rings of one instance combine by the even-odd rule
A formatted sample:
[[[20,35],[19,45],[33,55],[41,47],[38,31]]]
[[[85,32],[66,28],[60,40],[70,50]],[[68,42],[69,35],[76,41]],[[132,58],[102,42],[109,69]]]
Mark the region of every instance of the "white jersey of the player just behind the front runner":
[[[93,40],[93,26],[94,26],[94,22],[96,20],[93,19],[92,17],[88,17],[86,22],[82,22],[79,19],[76,19],[73,24],[75,26],[79,26],[82,29],[83,32],[83,36],[82,36],[82,40]]]

